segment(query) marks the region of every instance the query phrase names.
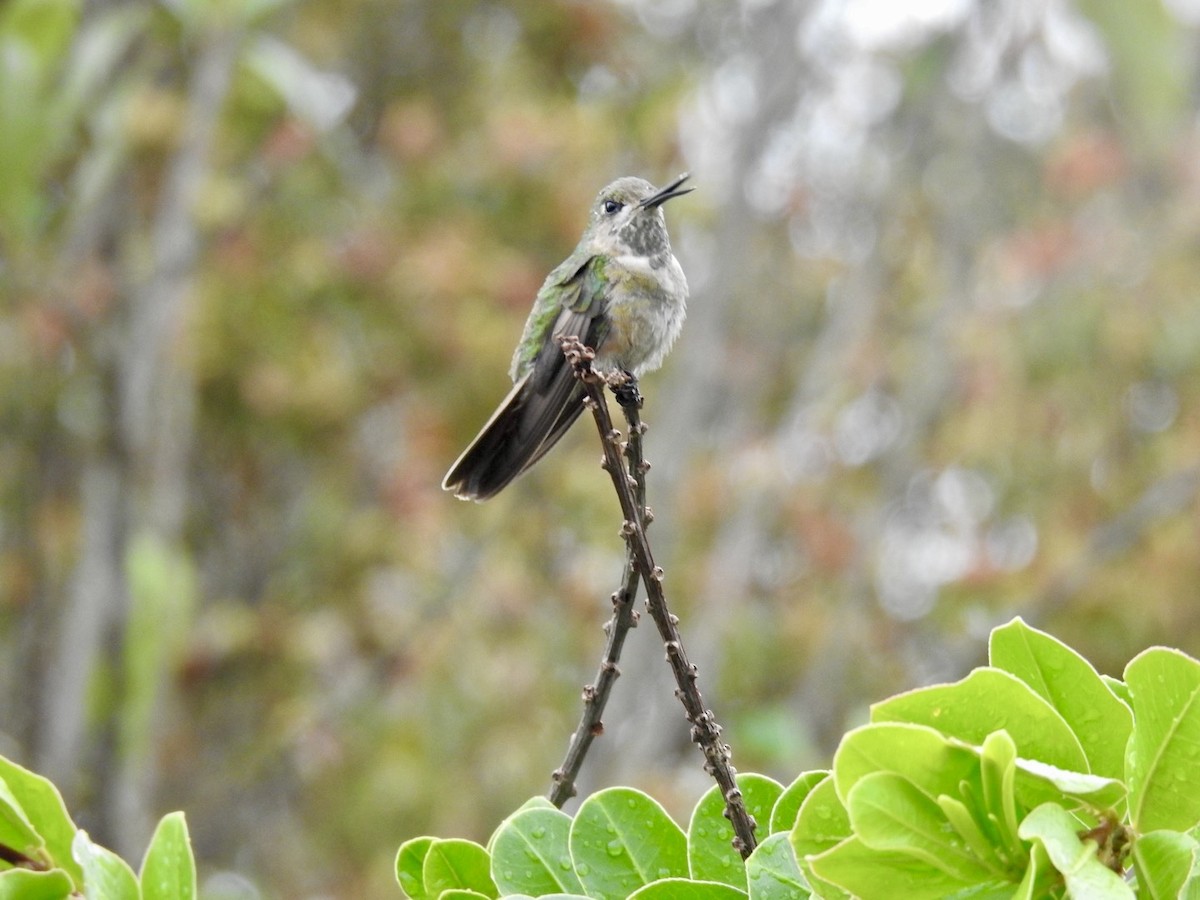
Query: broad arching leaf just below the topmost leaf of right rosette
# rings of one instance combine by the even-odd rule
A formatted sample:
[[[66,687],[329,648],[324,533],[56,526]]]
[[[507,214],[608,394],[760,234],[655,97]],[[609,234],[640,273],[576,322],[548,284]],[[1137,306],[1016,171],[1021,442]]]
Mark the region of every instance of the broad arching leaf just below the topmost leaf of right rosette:
[[[982,744],[1004,730],[1020,756],[1070,772],[1086,772],[1084,748],[1050,703],[1022,680],[998,668],[977,668],[954,684],[899,694],[871,707],[872,722],[913,722]]]

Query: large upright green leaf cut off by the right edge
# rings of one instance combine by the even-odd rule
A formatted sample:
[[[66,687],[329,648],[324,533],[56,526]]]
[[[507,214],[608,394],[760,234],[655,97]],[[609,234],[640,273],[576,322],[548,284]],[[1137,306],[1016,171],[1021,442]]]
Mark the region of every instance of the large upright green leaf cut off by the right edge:
[[[1124,671],[1134,730],[1127,767],[1129,816],[1142,834],[1200,820],[1200,662],[1162,647]]]

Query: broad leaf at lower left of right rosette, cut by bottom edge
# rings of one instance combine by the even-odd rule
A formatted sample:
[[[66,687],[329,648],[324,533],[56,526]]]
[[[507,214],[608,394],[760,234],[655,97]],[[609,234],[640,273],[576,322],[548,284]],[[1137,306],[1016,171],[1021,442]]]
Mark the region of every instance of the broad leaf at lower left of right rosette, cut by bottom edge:
[[[872,850],[858,838],[847,838],[809,862],[822,882],[860,898],[944,900],[968,887],[907,853]],[[1013,886],[1007,888],[1012,893]],[[818,884],[814,884],[814,889],[822,898],[832,896]]]

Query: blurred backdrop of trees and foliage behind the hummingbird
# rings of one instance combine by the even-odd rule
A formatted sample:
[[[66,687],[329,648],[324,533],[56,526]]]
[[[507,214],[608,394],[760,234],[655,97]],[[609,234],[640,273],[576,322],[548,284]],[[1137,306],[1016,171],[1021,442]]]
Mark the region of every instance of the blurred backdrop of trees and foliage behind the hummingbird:
[[[209,896],[394,896],[548,785],[623,558],[577,430],[438,490],[618,174],[652,539],[734,762],[1020,613],[1200,652],[1195,0],[8,0],[0,751]],[[635,632],[583,788],[707,786]],[[234,875],[233,872],[238,872]]]

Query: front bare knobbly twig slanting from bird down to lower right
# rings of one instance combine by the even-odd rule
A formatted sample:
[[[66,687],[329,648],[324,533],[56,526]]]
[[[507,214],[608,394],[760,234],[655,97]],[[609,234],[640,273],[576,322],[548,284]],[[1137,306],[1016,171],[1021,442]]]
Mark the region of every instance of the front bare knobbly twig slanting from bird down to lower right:
[[[642,583],[646,584],[646,606],[666,646],[667,662],[677,685],[676,696],[683,703],[688,721],[691,722],[691,739],[704,754],[704,770],[716,781],[725,798],[725,815],[733,826],[733,846],[743,858],[748,857],[755,848],[755,821],[746,811],[742,791],[734,780],[734,769],[730,764],[732,755],[730,746],[721,740],[721,727],[716,724],[713,712],[704,708],[704,701],[696,686],[696,667],[688,661],[683,638],[677,628],[678,618],[667,608],[666,596],[662,592],[662,570],[654,564],[654,556],[650,552],[642,522],[643,510],[635,498],[637,481],[629,475],[620,461],[620,432],[612,427],[612,418],[608,415],[608,404],[604,396],[605,379],[592,371],[592,360],[595,358],[595,353],[577,337],[564,337],[560,346],[587,392],[586,403],[592,409],[596,428],[600,432],[605,469],[612,478],[617,498],[620,500],[622,514],[625,517],[622,534],[641,574]],[[626,380],[622,376],[614,382],[614,386],[628,386]],[[628,415],[629,406],[634,406],[634,401],[631,400],[626,404],[623,394],[624,397],[636,397],[636,391],[618,391],[618,398],[622,400],[622,406],[626,409]]]

